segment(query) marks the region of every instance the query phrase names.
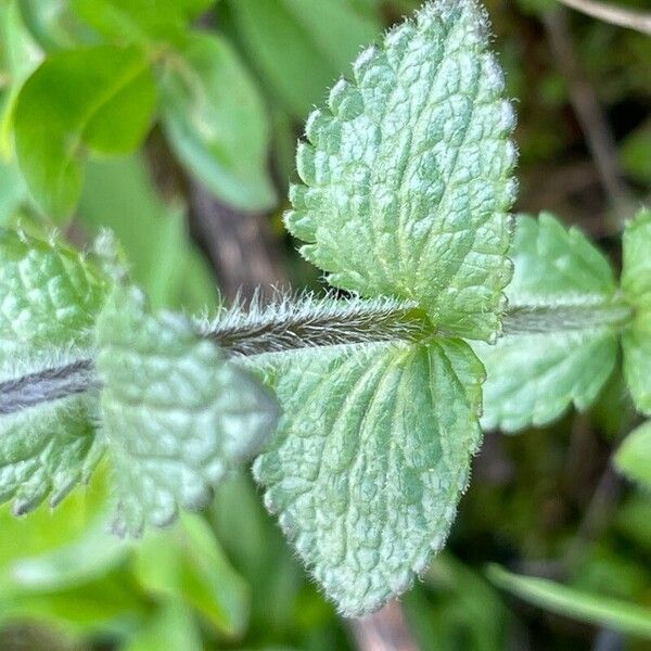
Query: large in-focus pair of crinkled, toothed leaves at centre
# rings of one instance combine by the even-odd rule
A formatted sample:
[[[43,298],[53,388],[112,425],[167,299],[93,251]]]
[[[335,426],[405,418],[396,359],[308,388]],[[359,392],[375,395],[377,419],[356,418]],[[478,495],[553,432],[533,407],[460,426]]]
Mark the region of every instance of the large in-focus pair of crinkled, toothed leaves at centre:
[[[483,368],[458,337],[498,335],[515,190],[487,29],[471,0],[425,5],[359,55],[298,148],[302,253],[334,286],[413,301],[438,335],[252,362],[283,407],[255,475],[345,615],[426,567],[480,444]]]

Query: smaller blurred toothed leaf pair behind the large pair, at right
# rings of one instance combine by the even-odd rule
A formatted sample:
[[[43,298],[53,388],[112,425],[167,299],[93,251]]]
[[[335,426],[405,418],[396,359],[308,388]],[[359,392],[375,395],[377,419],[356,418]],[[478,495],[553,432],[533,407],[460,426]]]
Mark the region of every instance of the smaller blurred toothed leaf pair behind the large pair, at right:
[[[565,229],[548,213],[522,215],[515,225],[511,309],[582,310],[614,302],[611,266],[578,229]],[[583,328],[554,321],[549,332],[507,334],[473,348],[487,375],[482,426],[514,432],[549,423],[571,405],[588,408],[615,366],[617,333],[586,316]]]

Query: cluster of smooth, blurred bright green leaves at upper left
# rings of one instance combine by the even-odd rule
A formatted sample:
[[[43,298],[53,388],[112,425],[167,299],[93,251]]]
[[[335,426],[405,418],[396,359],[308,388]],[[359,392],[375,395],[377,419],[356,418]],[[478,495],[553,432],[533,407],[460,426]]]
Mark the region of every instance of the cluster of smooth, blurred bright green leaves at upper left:
[[[138,149],[158,100],[169,142],[191,174],[240,208],[275,203],[257,89],[224,39],[189,28],[208,4],[74,3],[108,42],[50,54],[21,90],[15,111],[18,163],[46,213],[69,217],[87,150],[114,155]]]

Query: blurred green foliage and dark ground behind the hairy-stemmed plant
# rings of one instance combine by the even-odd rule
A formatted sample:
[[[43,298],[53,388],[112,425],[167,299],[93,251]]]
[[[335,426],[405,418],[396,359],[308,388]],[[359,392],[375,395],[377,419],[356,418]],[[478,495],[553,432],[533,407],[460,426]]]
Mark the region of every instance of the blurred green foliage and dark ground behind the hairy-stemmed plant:
[[[0,224],[78,245],[113,229],[156,306],[318,286],[281,222],[296,138],[418,4],[0,0]],[[579,225],[617,265],[651,191],[651,38],[554,0],[487,5],[518,101],[518,208]],[[651,648],[651,494],[611,463],[636,424],[613,376],[589,413],[486,435],[448,550],[401,602],[420,648]],[[106,534],[106,500],[97,473],[55,511],[0,510],[0,649],[376,648],[318,595],[248,476],[138,544]]]

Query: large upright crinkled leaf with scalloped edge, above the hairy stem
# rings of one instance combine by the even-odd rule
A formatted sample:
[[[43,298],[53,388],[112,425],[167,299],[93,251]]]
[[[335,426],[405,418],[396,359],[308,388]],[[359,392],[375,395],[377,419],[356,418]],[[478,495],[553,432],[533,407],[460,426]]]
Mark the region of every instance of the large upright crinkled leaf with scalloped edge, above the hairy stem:
[[[426,4],[311,114],[285,222],[337,288],[493,341],[511,278],[514,116],[474,0]]]

